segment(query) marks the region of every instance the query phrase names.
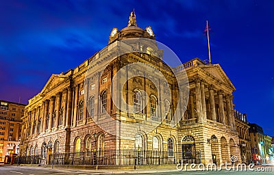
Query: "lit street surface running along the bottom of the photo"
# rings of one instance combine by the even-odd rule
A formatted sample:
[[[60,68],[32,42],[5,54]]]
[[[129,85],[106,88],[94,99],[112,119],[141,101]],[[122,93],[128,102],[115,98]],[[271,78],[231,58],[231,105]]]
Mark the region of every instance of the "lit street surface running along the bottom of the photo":
[[[258,167],[254,167],[254,170],[258,170]],[[271,168],[271,172],[256,172],[248,171],[247,172],[236,172],[236,171],[227,171],[222,170],[217,172],[205,171],[205,172],[179,172],[176,170],[65,170],[65,169],[51,169],[45,167],[16,167],[16,165],[0,165],[0,174],[1,175],[12,175],[12,174],[274,174],[274,168]]]

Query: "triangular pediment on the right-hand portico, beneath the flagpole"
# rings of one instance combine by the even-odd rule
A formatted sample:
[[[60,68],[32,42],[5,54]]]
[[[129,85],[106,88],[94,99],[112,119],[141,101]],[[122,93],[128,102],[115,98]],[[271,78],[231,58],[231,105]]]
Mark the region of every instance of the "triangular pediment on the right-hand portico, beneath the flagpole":
[[[232,84],[232,81],[227,77],[225,74],[225,71],[221,68],[219,64],[210,64],[210,65],[203,65],[199,66],[202,70],[208,72],[210,75],[212,75],[214,78],[218,79],[222,83],[225,83],[229,85],[233,90],[235,90],[234,85]]]

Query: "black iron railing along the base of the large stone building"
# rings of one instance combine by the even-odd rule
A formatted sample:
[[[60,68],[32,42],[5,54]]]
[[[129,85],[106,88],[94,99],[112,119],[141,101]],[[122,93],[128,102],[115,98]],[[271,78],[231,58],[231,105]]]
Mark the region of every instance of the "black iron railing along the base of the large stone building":
[[[18,164],[40,165],[162,165],[200,163],[199,152],[186,159],[184,152],[157,150],[97,150],[18,157]]]

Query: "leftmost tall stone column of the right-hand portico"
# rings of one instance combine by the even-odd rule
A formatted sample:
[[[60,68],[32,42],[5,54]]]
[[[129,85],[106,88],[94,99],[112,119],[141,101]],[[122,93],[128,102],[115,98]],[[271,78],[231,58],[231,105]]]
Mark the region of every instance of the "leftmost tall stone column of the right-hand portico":
[[[195,78],[195,94],[196,94],[196,111],[197,111],[197,121],[203,121],[202,114],[202,104],[201,104],[201,79]]]

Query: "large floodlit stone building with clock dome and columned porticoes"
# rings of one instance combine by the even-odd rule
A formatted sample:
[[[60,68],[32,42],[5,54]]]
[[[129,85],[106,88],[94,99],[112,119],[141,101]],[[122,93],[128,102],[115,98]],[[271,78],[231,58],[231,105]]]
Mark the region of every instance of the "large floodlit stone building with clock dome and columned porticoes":
[[[128,52],[108,63],[120,53],[110,52],[113,48]],[[52,75],[29,99],[22,117],[22,163],[220,164],[231,163],[231,157],[241,162],[235,87],[221,66],[195,58],[170,68],[162,55],[151,27],[138,27],[132,13],[127,27],[112,29],[105,48]],[[187,77],[180,77],[184,72]],[[178,82],[186,80],[179,94]],[[120,108],[123,102],[127,110]]]

